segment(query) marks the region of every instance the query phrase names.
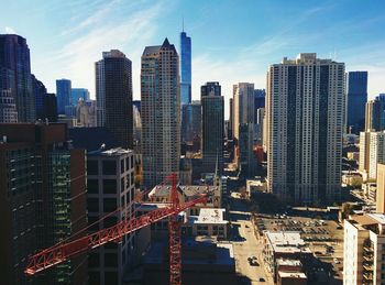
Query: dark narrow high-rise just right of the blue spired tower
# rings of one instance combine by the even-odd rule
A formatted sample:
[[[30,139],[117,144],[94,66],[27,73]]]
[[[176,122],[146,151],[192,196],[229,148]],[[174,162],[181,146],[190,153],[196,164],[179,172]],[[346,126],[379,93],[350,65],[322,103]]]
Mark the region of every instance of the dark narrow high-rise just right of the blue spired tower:
[[[206,172],[223,172],[224,100],[219,83],[200,87],[202,106],[202,164]]]

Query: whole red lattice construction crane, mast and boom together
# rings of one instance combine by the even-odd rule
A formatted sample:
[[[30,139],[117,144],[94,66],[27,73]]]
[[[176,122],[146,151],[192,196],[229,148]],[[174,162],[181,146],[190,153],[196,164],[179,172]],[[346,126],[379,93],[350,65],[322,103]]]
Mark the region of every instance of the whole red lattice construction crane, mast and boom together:
[[[120,241],[125,234],[140,230],[151,223],[168,218],[169,232],[169,284],[182,284],[182,221],[178,219],[179,212],[195,206],[206,204],[207,196],[200,195],[197,198],[180,204],[177,193],[177,176],[169,175],[166,180],[172,183],[170,204],[165,208],[160,208],[151,212],[130,220],[122,220],[116,226],[99,230],[95,233],[68,242],[61,242],[50,249],[43,250],[29,257],[28,266],[24,271],[26,275],[34,275],[37,272],[50,268],[56,264],[65,262],[70,257],[101,246],[108,242]]]

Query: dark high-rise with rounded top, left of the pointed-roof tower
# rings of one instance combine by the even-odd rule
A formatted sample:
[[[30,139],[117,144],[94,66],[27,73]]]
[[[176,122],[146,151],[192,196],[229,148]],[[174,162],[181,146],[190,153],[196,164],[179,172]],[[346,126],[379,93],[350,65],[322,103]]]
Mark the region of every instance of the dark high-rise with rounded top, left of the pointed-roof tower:
[[[98,125],[106,127],[123,149],[132,149],[132,64],[111,50],[96,63]]]

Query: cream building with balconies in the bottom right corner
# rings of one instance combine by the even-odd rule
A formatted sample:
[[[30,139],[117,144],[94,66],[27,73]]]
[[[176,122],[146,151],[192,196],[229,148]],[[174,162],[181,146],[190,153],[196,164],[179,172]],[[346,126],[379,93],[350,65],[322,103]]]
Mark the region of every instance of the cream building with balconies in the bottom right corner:
[[[384,284],[385,216],[353,216],[343,228],[343,284]]]

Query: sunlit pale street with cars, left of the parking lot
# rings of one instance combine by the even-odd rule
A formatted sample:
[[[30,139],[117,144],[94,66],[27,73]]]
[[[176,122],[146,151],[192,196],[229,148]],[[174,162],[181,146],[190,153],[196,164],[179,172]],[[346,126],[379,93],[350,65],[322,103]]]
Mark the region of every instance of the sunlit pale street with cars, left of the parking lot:
[[[241,277],[240,284],[274,284],[273,279],[266,276],[262,256],[263,243],[254,235],[250,212],[244,202],[242,199],[233,198],[230,209],[237,272],[244,276]],[[258,265],[250,265],[248,261],[250,256],[256,256]],[[260,278],[265,282],[261,282]]]

